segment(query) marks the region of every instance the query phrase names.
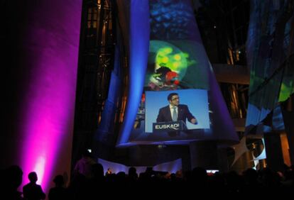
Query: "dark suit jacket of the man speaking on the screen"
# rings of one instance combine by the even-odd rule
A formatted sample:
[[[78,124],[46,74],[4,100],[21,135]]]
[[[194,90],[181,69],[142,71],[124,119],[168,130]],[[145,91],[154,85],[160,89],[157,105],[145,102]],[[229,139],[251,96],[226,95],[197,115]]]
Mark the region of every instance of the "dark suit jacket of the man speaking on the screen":
[[[186,120],[191,121],[192,118],[195,118],[195,116],[192,116],[187,105],[179,104],[178,105],[178,121],[184,121],[186,123]],[[156,122],[168,122],[168,121],[173,121],[171,118],[171,113],[170,113],[170,105],[159,109],[159,113],[156,119]]]

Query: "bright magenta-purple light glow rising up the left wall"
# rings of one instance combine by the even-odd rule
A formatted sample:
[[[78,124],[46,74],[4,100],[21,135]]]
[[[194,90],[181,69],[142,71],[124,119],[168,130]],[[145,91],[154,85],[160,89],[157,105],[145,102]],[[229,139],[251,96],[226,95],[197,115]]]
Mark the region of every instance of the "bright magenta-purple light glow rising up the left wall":
[[[28,74],[18,127],[23,140],[19,154],[23,184],[35,171],[38,184],[47,191],[60,169],[70,170],[82,1],[28,4],[28,26],[23,31]]]

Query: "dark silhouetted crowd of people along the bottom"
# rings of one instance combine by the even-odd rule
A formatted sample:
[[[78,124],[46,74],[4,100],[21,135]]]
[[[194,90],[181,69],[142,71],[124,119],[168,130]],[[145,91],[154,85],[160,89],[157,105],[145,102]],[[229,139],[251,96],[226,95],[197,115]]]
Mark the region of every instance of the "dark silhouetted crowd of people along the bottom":
[[[147,168],[146,172],[137,174],[135,167],[129,168],[129,173],[113,173],[110,169],[104,174],[101,164],[94,162],[87,153],[75,165],[70,183],[58,174],[53,179],[55,187],[48,196],[40,185],[36,184],[36,172],[28,174],[30,182],[23,186],[23,192],[18,191],[23,172],[21,167],[11,166],[1,170],[1,195],[6,199],[100,199],[106,193],[108,196],[133,194],[141,191],[143,195],[200,195],[214,196],[229,194],[233,196],[251,196],[256,194],[288,194],[294,189],[294,167],[285,165],[283,172],[273,172],[269,168],[262,170],[248,169],[242,174],[234,171],[207,174],[202,167],[195,167],[188,172],[176,173],[156,172]],[[67,185],[67,187],[66,187]]]

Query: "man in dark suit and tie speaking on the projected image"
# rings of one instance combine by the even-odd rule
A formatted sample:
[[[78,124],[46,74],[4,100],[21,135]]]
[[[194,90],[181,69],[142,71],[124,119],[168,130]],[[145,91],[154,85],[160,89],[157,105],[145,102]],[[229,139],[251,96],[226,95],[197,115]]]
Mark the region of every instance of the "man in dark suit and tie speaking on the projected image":
[[[170,93],[168,95],[168,102],[170,104],[159,109],[156,122],[168,121],[190,121],[190,123],[197,124],[195,116],[192,116],[187,105],[180,104],[180,97],[177,93]]]

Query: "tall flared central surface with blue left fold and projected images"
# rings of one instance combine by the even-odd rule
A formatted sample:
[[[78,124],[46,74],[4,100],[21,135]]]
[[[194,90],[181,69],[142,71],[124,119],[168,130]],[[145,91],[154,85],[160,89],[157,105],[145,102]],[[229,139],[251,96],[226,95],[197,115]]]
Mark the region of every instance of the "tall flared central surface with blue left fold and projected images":
[[[148,48],[141,47],[148,53],[144,54],[146,62],[141,63],[142,50],[136,48],[140,41],[130,38],[136,51],[130,46],[130,94],[117,144],[181,145],[192,140],[236,143],[239,139],[202,45],[191,1],[147,3],[150,35]],[[136,33],[136,28],[130,30]],[[139,69],[144,74],[134,73]],[[172,120],[171,107],[168,109],[170,94],[177,94],[173,98],[178,99],[175,113],[180,129]],[[165,127],[175,131],[159,131]]]

